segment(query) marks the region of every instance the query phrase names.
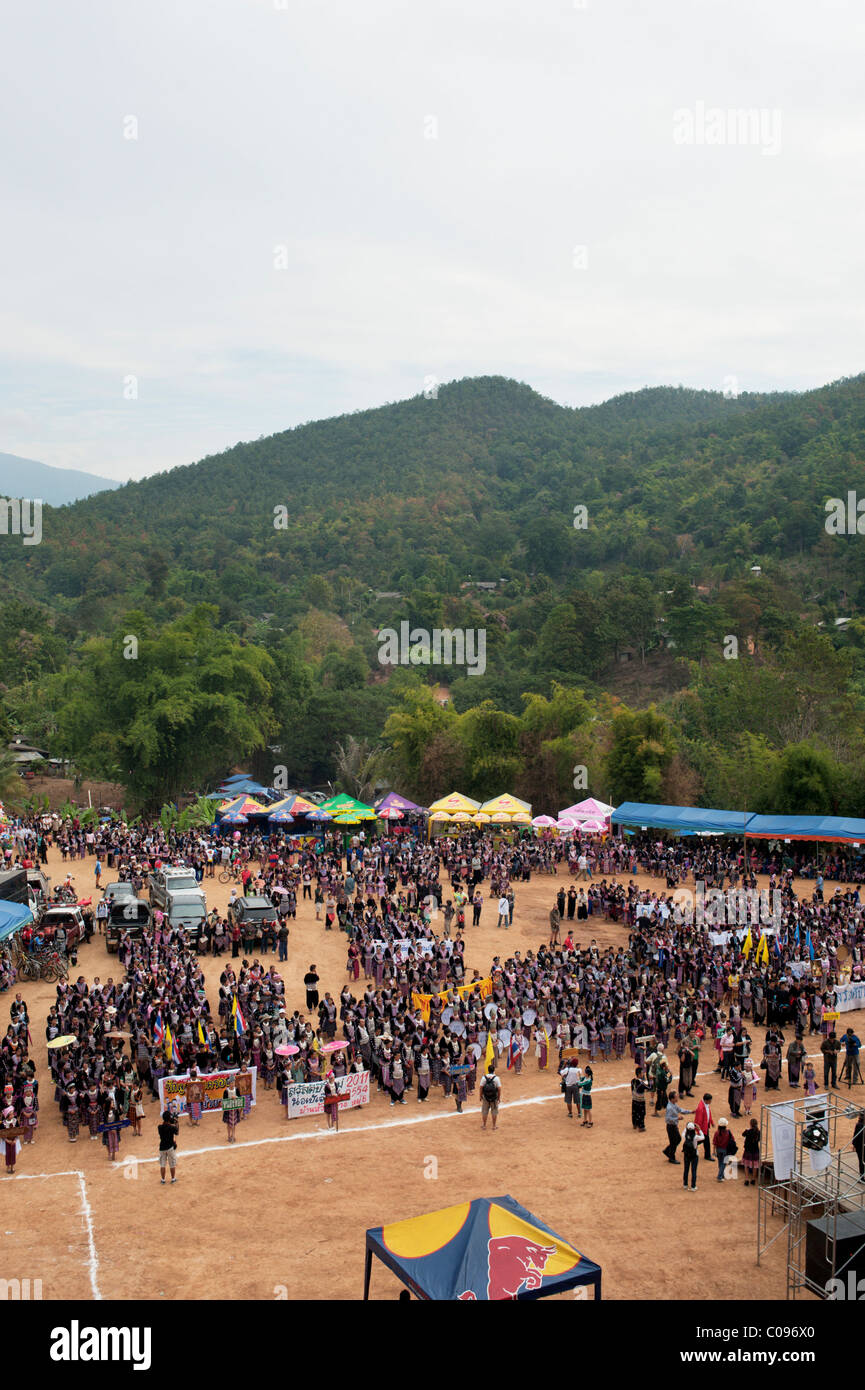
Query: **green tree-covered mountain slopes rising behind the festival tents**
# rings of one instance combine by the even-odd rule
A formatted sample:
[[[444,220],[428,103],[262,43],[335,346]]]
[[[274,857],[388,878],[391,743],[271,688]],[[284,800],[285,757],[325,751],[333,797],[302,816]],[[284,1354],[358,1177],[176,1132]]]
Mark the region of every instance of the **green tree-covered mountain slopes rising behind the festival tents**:
[[[594,774],[616,769],[606,790],[622,796],[611,738],[627,669],[634,709],[663,695],[645,714],[663,726],[644,738],[656,776],[637,766],[631,794],[731,798],[747,766],[777,798],[795,745],[827,759],[808,763],[822,809],[852,809],[865,552],[826,530],[827,499],[851,491],[865,496],[865,377],[801,395],[652,388],[580,410],[503,378],[453,382],[46,509],[39,546],[0,537],[4,717],[146,798],[207,774],[177,755],[191,720],[213,726],[214,773],[236,724],[236,756],[267,771],[278,746],[298,783],[337,776],[352,735],[384,745],[382,776],[413,778],[406,791],[499,777],[553,799],[585,724]],[[382,669],[375,632],[402,620],[483,628],[485,673]],[[811,721],[786,705],[768,720],[761,701],[779,713],[802,660],[825,680]],[[243,681],[257,703],[241,730]],[[438,682],[445,710],[428,706]],[[524,696],[559,709],[577,689],[581,723],[548,712],[538,741]],[[410,710],[432,720],[426,770],[399,753],[394,717]]]

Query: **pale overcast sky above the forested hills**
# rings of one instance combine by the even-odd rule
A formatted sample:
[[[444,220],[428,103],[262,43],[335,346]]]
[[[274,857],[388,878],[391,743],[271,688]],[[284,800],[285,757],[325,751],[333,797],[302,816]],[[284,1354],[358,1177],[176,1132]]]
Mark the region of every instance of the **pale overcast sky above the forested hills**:
[[[0,450],[127,480],[469,375],[854,375],[862,71],[855,0],[7,7]]]

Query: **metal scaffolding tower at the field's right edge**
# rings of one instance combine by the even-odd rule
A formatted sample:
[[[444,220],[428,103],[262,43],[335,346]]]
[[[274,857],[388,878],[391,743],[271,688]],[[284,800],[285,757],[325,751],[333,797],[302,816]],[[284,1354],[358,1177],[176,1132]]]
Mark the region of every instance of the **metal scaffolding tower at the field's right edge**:
[[[841,1258],[839,1252],[839,1220],[858,1212],[865,1222],[865,1182],[859,1180],[858,1158],[846,1129],[861,1112],[861,1104],[833,1091],[761,1108],[757,1264],[770,1245],[786,1240],[787,1298],[805,1291],[826,1297],[825,1282],[809,1277],[807,1269],[809,1222],[825,1222],[816,1238],[829,1277],[843,1279],[848,1268],[865,1268],[865,1229],[852,1254]],[[805,1141],[815,1122],[827,1134],[826,1148],[819,1152]]]

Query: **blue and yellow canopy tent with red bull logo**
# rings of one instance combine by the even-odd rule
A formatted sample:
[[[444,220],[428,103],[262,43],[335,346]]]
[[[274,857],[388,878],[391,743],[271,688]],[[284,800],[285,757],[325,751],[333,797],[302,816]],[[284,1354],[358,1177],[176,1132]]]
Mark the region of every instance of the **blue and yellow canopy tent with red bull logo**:
[[[373,1255],[417,1298],[548,1298],[579,1284],[594,1284],[595,1298],[601,1297],[601,1266],[513,1197],[476,1197],[367,1230],[364,1298]]]

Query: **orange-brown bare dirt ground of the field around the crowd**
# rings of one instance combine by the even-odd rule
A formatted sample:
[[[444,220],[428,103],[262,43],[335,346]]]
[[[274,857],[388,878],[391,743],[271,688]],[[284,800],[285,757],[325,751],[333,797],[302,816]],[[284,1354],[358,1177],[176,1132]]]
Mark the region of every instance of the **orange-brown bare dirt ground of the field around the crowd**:
[[[65,873],[56,851],[47,872],[54,881]],[[89,895],[93,859],[78,862],[74,872],[79,894]],[[545,941],[560,881],[544,876],[517,885],[508,934],[496,927],[495,905],[487,899],[480,927],[466,933],[469,966],[485,972],[494,955]],[[206,880],[204,888],[209,905],[227,903],[229,887]],[[310,962],[318,967],[320,988],[334,997],[346,979],[346,938],[325,933],[312,903],[298,912],[281,967],[289,1012],[303,1006],[302,977]],[[584,942],[592,935],[598,942],[627,940],[626,929],[612,923],[585,926]],[[78,970],[104,980],[118,976],[118,962],[95,938],[81,951]],[[221,962],[204,958],[204,970],[214,1004]],[[197,1129],[182,1120],[178,1183],[161,1187],[154,1102],[147,1104],[140,1138],[122,1131],[115,1163],[86,1133],[76,1144],[65,1138],[45,1048],[54,988],[22,991],[43,1088],[40,1125],[15,1176],[0,1177],[0,1277],[39,1279],[43,1298],[360,1298],[367,1227],[502,1194],[602,1266],[605,1298],[784,1297],[784,1241],[757,1266],[757,1190],[741,1176],[716,1184],[715,1165],[701,1161],[698,1190],[686,1193],[681,1168],[670,1173],[661,1155],[663,1119],[649,1111],[647,1133],[631,1129],[630,1058],[598,1062],[591,1130],[567,1119],[555,1070],[538,1073],[531,1054],[520,1077],[502,1070],[496,1133],[481,1129],[477,1101],[458,1115],[441,1093],[423,1109],[413,1093],[396,1109],[373,1093],[369,1106],[341,1113],[334,1134],[324,1116],[285,1120],[277,1091],[260,1088],[235,1145],[225,1144],[217,1115],[206,1115]],[[13,992],[0,999],[3,1029]],[[847,1024],[861,1036],[865,1013],[844,1015]],[[762,1030],[755,1033],[757,1047],[762,1038]],[[816,1040],[808,1045],[815,1051]],[[727,1088],[711,1076],[712,1066],[713,1052],[704,1048],[702,1080],[690,1104],[708,1087],[715,1113],[725,1115]],[[782,1081],[772,1099],[790,1094]],[[754,1113],[759,1118],[759,1101]],[[744,1120],[734,1122],[738,1138],[744,1127]],[[399,1287],[375,1262],[371,1297],[395,1298]]]

